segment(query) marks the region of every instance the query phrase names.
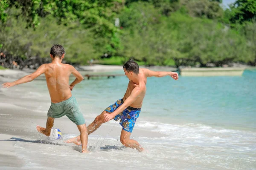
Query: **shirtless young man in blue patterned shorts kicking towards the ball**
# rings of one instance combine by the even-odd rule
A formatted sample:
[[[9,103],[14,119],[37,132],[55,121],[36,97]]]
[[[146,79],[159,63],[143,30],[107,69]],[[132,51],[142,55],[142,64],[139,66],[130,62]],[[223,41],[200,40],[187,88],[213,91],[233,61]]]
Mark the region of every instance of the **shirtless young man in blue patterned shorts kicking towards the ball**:
[[[114,119],[120,119],[122,132],[120,141],[126,147],[135,148],[138,151],[143,151],[143,147],[139,142],[130,139],[131,132],[134,124],[140,115],[140,108],[143,104],[143,99],[146,93],[146,83],[148,77],[164,77],[171,76],[173,79],[178,80],[176,72],[155,72],[149,69],[140,69],[139,65],[132,60],[127,61],[123,70],[129,79],[128,87],[122,99],[117,100],[114,104],[105,109],[95,120],[87,127],[88,135],[97,130],[103,123]],[[71,138],[67,143],[81,144],[80,136]]]

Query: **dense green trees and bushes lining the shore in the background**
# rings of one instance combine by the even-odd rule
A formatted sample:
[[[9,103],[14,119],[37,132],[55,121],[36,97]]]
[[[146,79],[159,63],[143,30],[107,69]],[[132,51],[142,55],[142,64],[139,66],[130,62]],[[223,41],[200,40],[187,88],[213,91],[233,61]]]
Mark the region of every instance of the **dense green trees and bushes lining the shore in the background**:
[[[0,52],[49,57],[60,43],[65,59],[122,65],[256,65],[255,0],[2,0]],[[120,27],[114,19],[120,19]],[[242,23],[242,24],[240,24]],[[111,58],[100,59],[107,53]],[[116,57],[118,56],[118,57]]]

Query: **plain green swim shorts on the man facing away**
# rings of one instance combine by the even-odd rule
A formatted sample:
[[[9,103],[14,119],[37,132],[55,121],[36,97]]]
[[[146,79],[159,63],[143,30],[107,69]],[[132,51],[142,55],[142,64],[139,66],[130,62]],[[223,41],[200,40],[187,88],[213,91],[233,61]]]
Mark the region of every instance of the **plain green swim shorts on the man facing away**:
[[[81,112],[76,98],[73,96],[65,101],[52,103],[47,115],[52,118],[60,118],[66,115],[76,125],[85,124],[84,115]]]

